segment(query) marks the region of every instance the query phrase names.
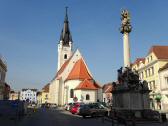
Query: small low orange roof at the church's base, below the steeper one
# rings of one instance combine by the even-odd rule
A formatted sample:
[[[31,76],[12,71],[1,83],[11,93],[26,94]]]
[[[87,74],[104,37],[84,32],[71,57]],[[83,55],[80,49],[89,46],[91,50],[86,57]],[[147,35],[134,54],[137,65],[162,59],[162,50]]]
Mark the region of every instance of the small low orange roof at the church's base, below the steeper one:
[[[82,81],[75,90],[97,90],[98,88],[94,85],[91,80],[85,79]]]

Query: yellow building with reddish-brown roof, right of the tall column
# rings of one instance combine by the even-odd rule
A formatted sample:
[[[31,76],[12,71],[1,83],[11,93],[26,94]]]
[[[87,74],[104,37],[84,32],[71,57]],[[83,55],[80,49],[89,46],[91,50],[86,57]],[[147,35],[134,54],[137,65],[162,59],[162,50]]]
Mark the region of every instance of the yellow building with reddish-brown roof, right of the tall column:
[[[132,69],[138,71],[140,79],[148,82],[153,109],[161,109],[159,69],[166,63],[168,63],[168,46],[152,46],[145,58],[137,58],[132,65]]]

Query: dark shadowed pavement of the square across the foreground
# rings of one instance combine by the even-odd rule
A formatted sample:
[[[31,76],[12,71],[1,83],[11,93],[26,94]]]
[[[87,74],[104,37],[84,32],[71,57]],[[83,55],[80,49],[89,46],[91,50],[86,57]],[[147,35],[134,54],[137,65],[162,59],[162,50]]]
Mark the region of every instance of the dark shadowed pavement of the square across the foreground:
[[[62,109],[39,109],[17,121],[0,118],[0,126],[112,126],[112,122],[102,118],[83,119]],[[168,123],[141,122],[136,126],[168,126]]]

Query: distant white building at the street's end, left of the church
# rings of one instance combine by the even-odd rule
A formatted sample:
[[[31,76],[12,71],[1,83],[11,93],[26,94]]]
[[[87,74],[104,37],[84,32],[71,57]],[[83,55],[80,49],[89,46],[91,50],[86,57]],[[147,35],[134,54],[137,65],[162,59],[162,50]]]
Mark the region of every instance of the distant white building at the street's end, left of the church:
[[[20,92],[20,100],[36,103],[37,89],[22,89],[22,91]]]

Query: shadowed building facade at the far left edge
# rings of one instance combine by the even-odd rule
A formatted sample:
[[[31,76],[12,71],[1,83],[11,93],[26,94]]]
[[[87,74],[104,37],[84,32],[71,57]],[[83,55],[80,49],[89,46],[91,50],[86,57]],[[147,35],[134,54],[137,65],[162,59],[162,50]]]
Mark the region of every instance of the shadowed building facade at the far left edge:
[[[0,57],[0,100],[4,99],[5,93],[5,77],[7,72],[7,65]]]

